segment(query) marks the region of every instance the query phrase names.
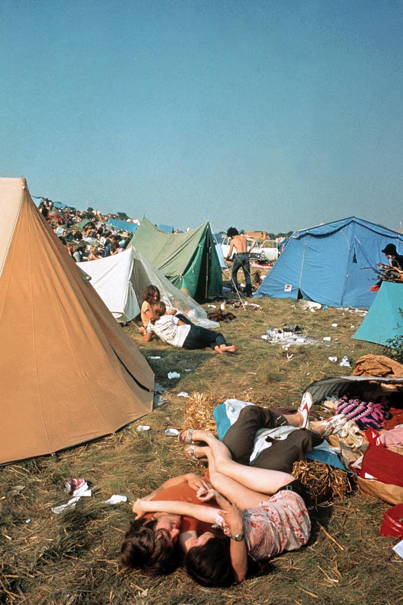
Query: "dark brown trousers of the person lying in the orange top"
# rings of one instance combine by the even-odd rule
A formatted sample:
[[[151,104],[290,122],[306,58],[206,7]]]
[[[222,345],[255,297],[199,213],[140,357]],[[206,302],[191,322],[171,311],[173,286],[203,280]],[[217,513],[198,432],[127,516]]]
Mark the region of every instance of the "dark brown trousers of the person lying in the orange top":
[[[265,410],[258,405],[247,405],[242,408],[236,422],[228,429],[223,442],[235,462],[250,465],[256,432],[260,428],[276,428],[284,425],[288,425],[288,422],[282,414]],[[274,441],[250,466],[291,473],[294,462],[305,458],[305,452],[312,451],[315,445],[322,442],[323,438],[314,431],[300,428],[292,431],[286,439]]]

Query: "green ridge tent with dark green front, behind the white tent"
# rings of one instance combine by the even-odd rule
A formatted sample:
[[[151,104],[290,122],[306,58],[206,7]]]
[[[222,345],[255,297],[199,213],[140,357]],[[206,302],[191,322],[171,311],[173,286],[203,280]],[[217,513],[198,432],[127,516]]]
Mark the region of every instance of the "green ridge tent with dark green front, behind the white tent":
[[[193,298],[222,294],[221,266],[208,221],[193,231],[169,234],[144,217],[129,246]]]

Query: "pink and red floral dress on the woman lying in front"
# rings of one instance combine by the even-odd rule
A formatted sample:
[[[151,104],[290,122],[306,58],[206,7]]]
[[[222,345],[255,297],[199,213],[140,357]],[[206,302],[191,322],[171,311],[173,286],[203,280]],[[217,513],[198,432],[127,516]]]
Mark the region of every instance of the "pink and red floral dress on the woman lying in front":
[[[243,511],[248,553],[256,560],[275,557],[283,551],[295,551],[308,542],[311,520],[300,495],[282,490],[256,508]],[[221,515],[216,525],[230,535]]]

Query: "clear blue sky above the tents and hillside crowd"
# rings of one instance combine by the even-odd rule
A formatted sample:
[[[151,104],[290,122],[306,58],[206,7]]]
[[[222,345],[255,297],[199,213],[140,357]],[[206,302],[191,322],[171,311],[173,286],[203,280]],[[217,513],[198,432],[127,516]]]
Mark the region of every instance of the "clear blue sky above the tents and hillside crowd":
[[[0,2],[0,174],[154,223],[403,221],[403,3]]]

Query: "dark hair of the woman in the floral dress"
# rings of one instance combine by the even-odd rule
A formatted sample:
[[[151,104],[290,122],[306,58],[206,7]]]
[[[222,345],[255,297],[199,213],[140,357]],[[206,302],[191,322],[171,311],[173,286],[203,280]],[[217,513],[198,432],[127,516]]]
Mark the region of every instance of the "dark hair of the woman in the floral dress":
[[[211,528],[214,538],[193,546],[185,558],[188,574],[202,586],[229,586],[234,583],[230,538],[221,528]]]

